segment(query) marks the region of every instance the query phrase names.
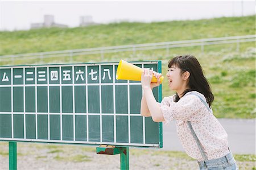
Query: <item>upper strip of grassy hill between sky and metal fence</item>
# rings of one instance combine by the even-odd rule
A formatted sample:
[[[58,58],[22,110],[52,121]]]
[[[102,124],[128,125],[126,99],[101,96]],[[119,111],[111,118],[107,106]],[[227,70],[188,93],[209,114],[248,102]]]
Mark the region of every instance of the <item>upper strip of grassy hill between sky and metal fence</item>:
[[[0,32],[0,55],[255,34],[255,16]]]

